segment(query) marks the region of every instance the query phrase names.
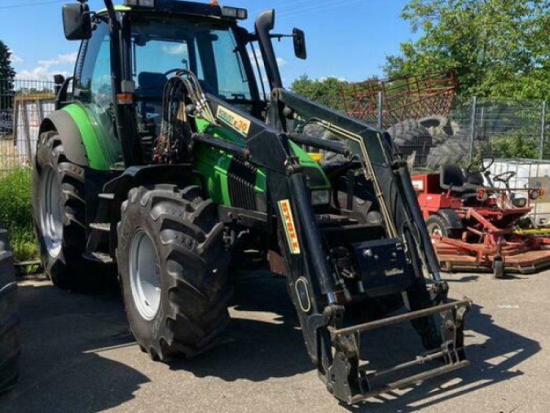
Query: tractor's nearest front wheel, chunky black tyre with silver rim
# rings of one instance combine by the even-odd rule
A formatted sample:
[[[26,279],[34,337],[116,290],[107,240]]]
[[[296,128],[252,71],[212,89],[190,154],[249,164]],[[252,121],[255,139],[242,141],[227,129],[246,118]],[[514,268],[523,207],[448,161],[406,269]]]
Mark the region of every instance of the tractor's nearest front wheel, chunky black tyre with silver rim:
[[[129,191],[118,271],[130,330],[153,360],[214,346],[229,322],[229,254],[212,200],[198,187]]]

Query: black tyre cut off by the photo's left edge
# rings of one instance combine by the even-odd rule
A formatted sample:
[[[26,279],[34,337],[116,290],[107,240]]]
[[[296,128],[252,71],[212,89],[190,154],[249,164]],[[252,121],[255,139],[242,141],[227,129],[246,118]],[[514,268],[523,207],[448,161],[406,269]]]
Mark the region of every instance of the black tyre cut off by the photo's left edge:
[[[15,385],[19,376],[19,313],[13,257],[8,233],[0,230],[0,392]]]

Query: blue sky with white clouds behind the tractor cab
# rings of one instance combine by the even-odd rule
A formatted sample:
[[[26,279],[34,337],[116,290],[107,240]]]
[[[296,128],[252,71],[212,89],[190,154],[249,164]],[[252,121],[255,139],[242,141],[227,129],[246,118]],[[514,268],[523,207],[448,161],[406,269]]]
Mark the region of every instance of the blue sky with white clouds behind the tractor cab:
[[[55,73],[72,72],[78,42],[63,36],[61,6],[56,0],[0,0],[0,40],[12,49],[20,78],[51,80]],[[121,3],[122,0],[115,0]],[[294,58],[292,41],[276,44],[283,81],[287,85],[301,74],[312,78],[338,76],[361,81],[380,75],[387,54],[410,39],[408,23],[399,14],[406,0],[227,0],[225,6],[248,8],[243,25],[252,30],[261,10],[275,8],[276,32],[298,27],[306,32],[309,58]],[[90,0],[92,10],[102,0]],[[12,8],[11,6],[19,6]]]

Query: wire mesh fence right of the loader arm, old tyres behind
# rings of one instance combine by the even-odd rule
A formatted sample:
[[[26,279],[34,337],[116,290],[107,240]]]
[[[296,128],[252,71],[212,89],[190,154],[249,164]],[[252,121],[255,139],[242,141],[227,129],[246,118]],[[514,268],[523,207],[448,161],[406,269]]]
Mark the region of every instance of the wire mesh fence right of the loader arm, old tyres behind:
[[[410,100],[399,111],[384,105],[382,93],[368,99],[357,95],[353,105],[336,99],[321,103],[387,129],[412,169],[466,165],[485,156],[550,159],[550,115],[544,101],[447,96]]]

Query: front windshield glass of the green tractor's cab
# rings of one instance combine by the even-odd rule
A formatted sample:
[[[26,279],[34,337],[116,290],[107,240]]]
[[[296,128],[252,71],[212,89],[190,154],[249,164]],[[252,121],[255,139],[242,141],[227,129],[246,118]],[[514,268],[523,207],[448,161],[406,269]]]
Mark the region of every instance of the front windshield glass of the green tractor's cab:
[[[133,76],[138,98],[156,100],[179,69],[194,72],[204,91],[234,103],[250,101],[252,85],[228,23],[187,17],[132,17]]]

